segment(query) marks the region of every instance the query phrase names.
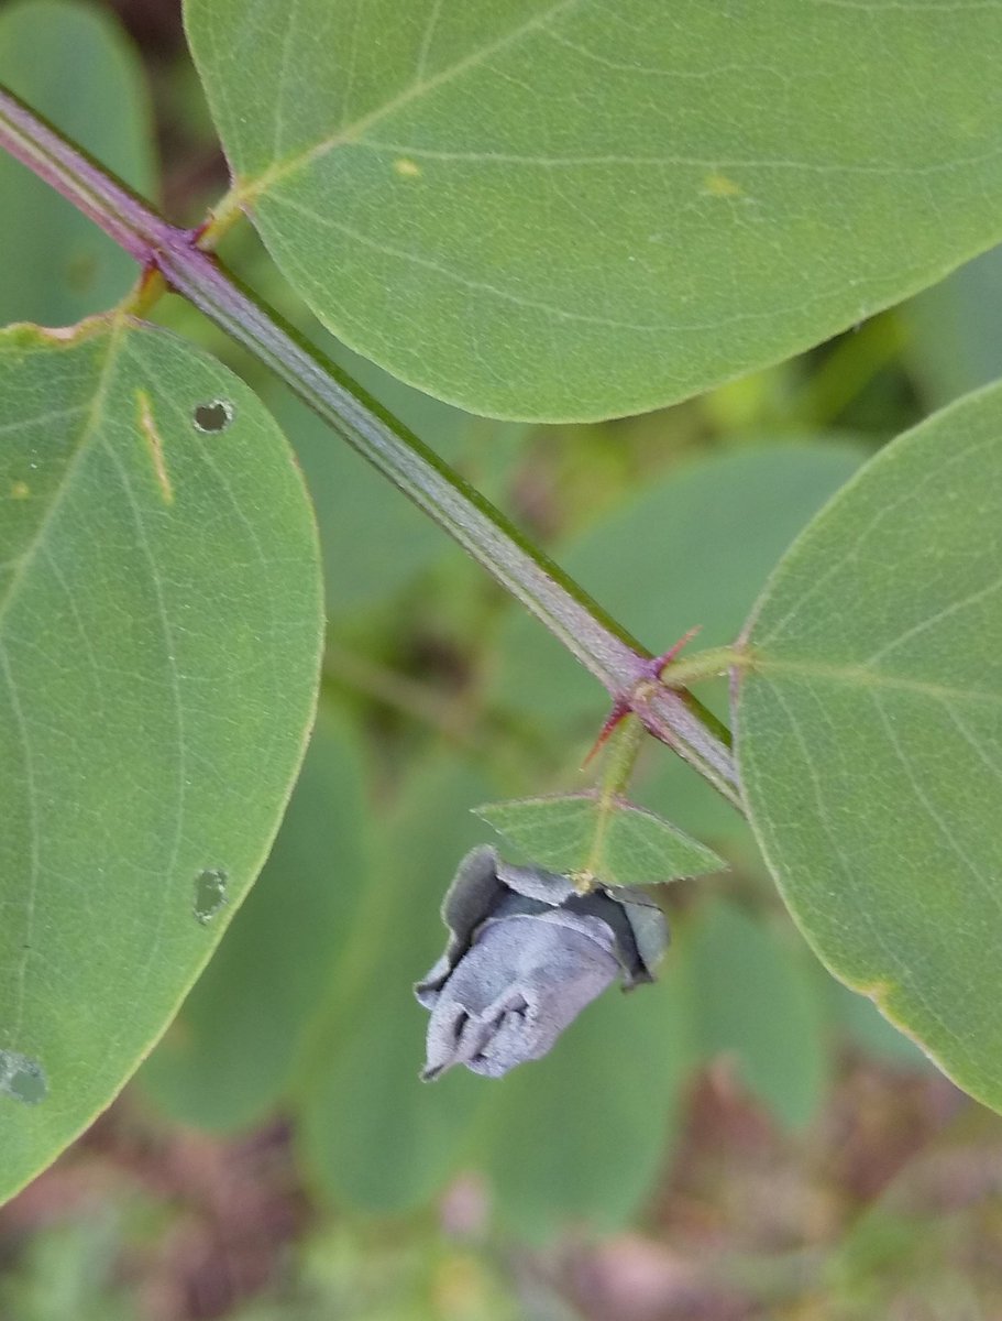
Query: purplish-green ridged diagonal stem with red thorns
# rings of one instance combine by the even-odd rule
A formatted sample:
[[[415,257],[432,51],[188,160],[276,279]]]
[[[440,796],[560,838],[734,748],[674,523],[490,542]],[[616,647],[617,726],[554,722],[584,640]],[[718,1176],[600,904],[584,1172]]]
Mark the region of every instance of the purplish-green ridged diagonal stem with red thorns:
[[[647,651],[483,495],[387,413],[341,369],[301,343],[202,247],[202,230],[168,225],[144,202],[0,89],[0,147],[49,182],[234,339],[444,527],[564,646],[630,704],[644,725],[739,806],[726,731],[685,690],[651,692]],[[643,695],[639,690],[643,688]],[[638,700],[634,704],[634,690]]]

